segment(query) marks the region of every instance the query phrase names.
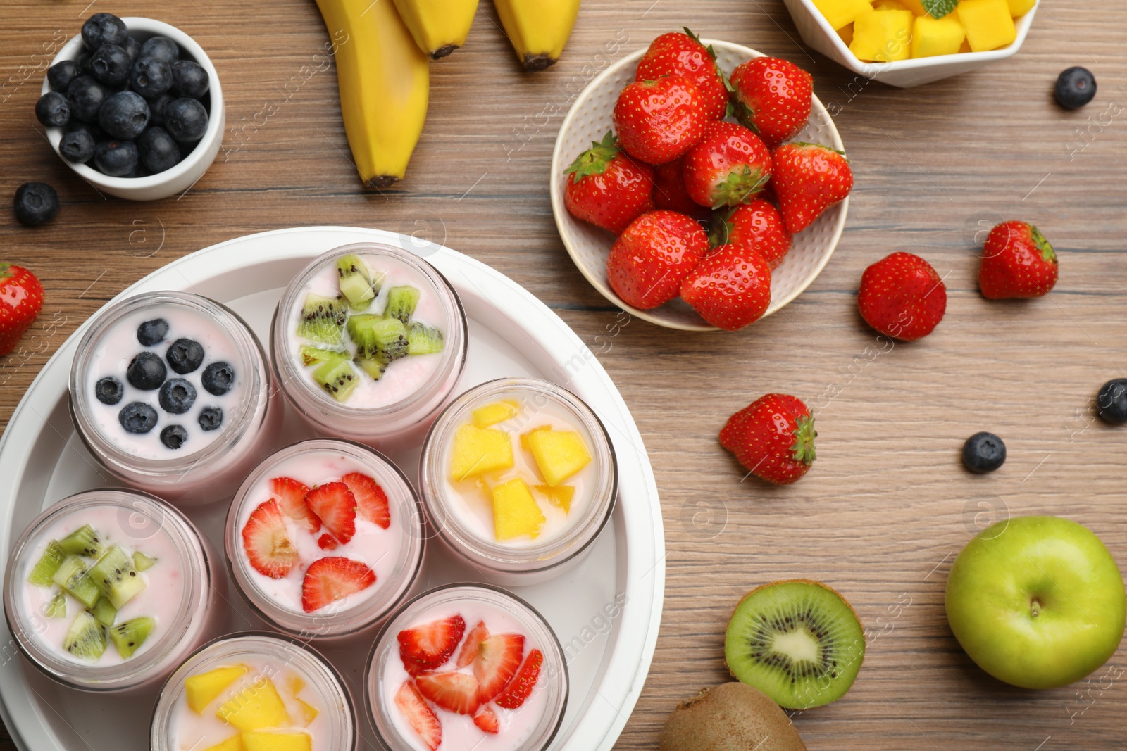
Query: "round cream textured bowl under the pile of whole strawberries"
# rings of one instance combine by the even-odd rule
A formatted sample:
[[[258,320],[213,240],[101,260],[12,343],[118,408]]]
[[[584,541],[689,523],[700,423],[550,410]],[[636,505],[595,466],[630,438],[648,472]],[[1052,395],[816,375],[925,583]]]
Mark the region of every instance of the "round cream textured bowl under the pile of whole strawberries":
[[[716,51],[716,62],[726,75],[731,73],[736,65],[763,56],[761,52],[730,42],[716,39],[701,39],[701,42],[704,46],[712,45]],[[612,129],[611,115],[614,113],[614,102],[618,101],[623,87],[633,81],[638,61],[645,53],[645,50],[638,50],[607,68],[587,84],[571,105],[564,125],[560,126],[559,135],[556,136],[556,149],[552,151],[552,214],[556,215],[556,226],[571,260],[603,297],[629,311],[631,315],[669,329],[719,331],[680,297],[648,311],[638,310],[622,302],[611,289],[606,278],[606,256],[614,244],[614,235],[593,224],[580,222],[564,206],[564,186],[568,179],[564,170],[575,161],[576,157],[591,147],[592,141],[602,141],[603,135]],[[810,107],[810,119],[793,141],[823,143],[838,151],[845,150],[837,128],[834,127],[833,118],[817,97],[814,97]],[[790,252],[771,272],[771,305],[763,318],[781,310],[818,278],[837,247],[837,240],[845,229],[848,212],[849,198],[828,208],[814,224],[795,235]]]

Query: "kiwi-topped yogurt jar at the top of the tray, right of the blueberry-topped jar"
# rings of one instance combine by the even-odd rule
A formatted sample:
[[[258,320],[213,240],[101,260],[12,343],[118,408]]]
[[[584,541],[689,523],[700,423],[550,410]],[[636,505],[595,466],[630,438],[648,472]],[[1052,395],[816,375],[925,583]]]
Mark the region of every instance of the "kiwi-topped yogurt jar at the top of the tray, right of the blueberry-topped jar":
[[[319,256],[286,287],[270,354],[314,430],[376,448],[421,437],[465,365],[465,313],[445,277],[379,243]]]

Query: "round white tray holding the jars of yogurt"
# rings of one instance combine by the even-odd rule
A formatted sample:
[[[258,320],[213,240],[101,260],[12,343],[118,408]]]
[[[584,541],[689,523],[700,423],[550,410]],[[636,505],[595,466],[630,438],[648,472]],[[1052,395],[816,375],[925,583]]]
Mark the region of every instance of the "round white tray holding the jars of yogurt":
[[[206,295],[234,309],[265,342],[286,283],[314,256],[361,241],[414,250],[458,289],[470,329],[460,388],[499,376],[548,378],[584,399],[611,433],[620,472],[611,525],[575,572],[513,590],[547,617],[568,655],[571,691],[552,751],[610,749],[633,709],[654,654],[665,589],[665,540],[657,486],[633,419],[606,372],[559,316],[507,277],[449,248],[355,227],[300,227],[231,240],[169,263],[118,298],[153,289]],[[66,409],[66,378],[85,331],[83,324],[44,366],[0,439],[0,565],[7,564],[11,543],[43,508],[81,490],[121,484],[99,471],[74,433]],[[278,446],[305,435],[287,413]],[[408,476],[416,477],[418,447],[391,458]],[[225,490],[228,498],[234,491]],[[220,551],[227,507],[227,502],[213,503],[188,513]],[[483,581],[478,572],[446,558],[437,548],[433,545],[427,549],[421,573],[426,585]],[[229,599],[229,631],[265,627],[237,596]],[[0,636],[0,715],[20,749],[147,746],[148,698],[124,701],[60,688],[25,664],[2,622]],[[363,655],[355,650],[326,653],[360,697],[355,686],[367,647]],[[366,746],[380,748],[360,706],[357,714]]]

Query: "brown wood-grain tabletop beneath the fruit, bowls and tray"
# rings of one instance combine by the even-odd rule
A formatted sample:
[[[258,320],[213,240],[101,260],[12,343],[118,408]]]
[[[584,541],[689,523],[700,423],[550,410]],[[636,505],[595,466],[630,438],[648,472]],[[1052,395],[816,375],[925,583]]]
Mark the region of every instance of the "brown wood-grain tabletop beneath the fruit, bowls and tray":
[[[104,199],[51,153],[34,118],[52,45],[95,11],[159,12],[219,70],[227,152],[179,198]],[[616,749],[656,749],[675,704],[726,679],[722,634],[739,597],[798,576],[843,592],[869,634],[849,695],[795,718],[811,750],[1124,748],[1127,688],[1115,680],[1124,647],[1089,680],[1019,690],[968,660],[942,607],[955,555],[978,525],[1006,513],[1076,519],[1127,565],[1127,431],[1090,413],[1100,384],[1125,375],[1127,354],[1124,6],[1045,2],[1015,57],[899,90],[804,47],[780,0],[587,0],[564,59],[536,74],[518,70],[483,1],[465,47],[433,65],[423,141],[408,178],[383,194],[361,190],[334,71],[293,78],[327,38],[311,0],[7,0],[0,18],[0,193],[45,180],[62,200],[39,229],[0,212],[0,258],[46,287],[25,349],[0,360],[0,424],[87,316],[185,253],[305,224],[426,233],[556,310],[614,378],[645,438],[665,521],[665,611]],[[637,320],[614,329],[618,310],[568,259],[548,198],[552,144],[576,92],[609,61],[683,25],[811,71],[816,93],[836,105],[855,173],[849,225],[825,271],[780,314],[735,334]],[[1050,97],[1070,65],[1099,80],[1095,100],[1075,113]],[[269,102],[277,111],[256,124]],[[1046,298],[978,294],[975,234],[1003,218],[1035,222],[1054,242],[1061,280]],[[934,265],[949,302],[932,336],[888,348],[854,296],[862,269],[898,250]],[[745,480],[716,439],[729,413],[773,391],[817,412],[818,461],[788,488]],[[1009,447],[990,476],[959,463],[978,430]]]

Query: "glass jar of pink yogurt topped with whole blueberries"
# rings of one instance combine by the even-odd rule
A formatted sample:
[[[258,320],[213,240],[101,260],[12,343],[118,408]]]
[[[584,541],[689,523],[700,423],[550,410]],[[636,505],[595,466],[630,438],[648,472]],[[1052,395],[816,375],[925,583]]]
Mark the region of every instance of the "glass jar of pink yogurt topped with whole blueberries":
[[[115,476],[180,504],[220,500],[269,452],[282,405],[266,354],[233,311],[181,292],[103,311],[78,346],[69,401]]]

